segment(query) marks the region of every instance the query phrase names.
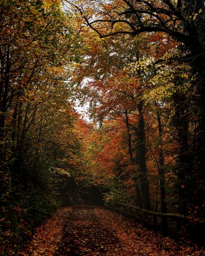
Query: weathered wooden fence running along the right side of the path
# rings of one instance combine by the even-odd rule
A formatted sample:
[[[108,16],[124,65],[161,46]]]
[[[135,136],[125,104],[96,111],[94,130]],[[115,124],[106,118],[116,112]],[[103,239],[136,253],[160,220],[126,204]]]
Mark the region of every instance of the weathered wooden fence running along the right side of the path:
[[[120,213],[132,216],[135,219],[143,221],[149,225],[159,228],[162,227],[164,230],[167,230],[168,225],[170,224],[173,226],[173,222],[175,222],[176,227],[179,230],[180,227],[189,220],[189,217],[182,214],[152,212],[140,207],[123,204],[120,202],[111,202],[108,207],[115,211],[119,211]],[[171,221],[167,222],[167,219],[171,219]]]

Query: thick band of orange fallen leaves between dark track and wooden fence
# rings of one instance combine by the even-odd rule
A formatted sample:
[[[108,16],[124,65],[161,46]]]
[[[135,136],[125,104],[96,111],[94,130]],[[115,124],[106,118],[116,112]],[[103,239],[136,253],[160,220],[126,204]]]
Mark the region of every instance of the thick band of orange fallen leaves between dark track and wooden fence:
[[[199,250],[195,244],[177,243],[170,237],[153,232],[142,224],[127,220],[126,217],[109,211],[95,210],[97,218],[104,227],[111,227],[121,242],[121,248],[113,255],[120,256],[197,256],[205,255],[204,249]]]

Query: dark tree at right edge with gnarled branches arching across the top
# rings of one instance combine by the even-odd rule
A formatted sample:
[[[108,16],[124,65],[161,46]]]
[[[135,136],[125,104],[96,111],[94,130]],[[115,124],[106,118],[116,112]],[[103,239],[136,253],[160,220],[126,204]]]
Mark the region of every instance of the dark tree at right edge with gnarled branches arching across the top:
[[[158,36],[167,34],[176,40],[180,54],[173,54],[173,59],[181,63],[189,63],[192,67],[190,80],[196,88],[195,105],[198,106],[199,120],[198,133],[196,133],[195,173],[201,173],[196,179],[201,192],[195,193],[198,199],[204,190],[203,157],[204,152],[204,4],[203,1],[171,1],[139,2],[139,1],[111,1],[103,3],[83,2],[79,5],[69,2],[76,7],[86,24],[93,29],[100,38],[126,34],[132,37],[147,34]],[[95,14],[93,18],[91,12]],[[197,75],[195,75],[197,74]],[[184,159],[184,158],[183,158]],[[183,160],[182,159],[182,160]],[[187,159],[188,160],[188,159]],[[183,172],[183,171],[182,171]],[[189,173],[191,177],[192,174]],[[185,197],[182,195],[182,200]],[[197,199],[197,200],[198,200]],[[202,201],[200,205],[202,206]],[[187,212],[186,207],[186,212]]]

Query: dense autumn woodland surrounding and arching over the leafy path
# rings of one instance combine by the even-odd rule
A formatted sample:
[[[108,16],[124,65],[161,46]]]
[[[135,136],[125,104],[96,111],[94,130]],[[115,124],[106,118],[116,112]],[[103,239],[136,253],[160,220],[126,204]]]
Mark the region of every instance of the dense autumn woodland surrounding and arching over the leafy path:
[[[200,225],[204,121],[203,0],[1,0],[0,253],[68,205]]]

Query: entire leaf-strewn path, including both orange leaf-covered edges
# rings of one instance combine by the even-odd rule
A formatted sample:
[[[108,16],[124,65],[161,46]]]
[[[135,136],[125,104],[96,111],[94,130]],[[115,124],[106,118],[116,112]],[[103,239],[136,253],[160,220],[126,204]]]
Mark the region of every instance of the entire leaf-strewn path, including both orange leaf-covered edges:
[[[205,249],[176,242],[104,207],[65,207],[37,228],[23,256],[205,255]]]

